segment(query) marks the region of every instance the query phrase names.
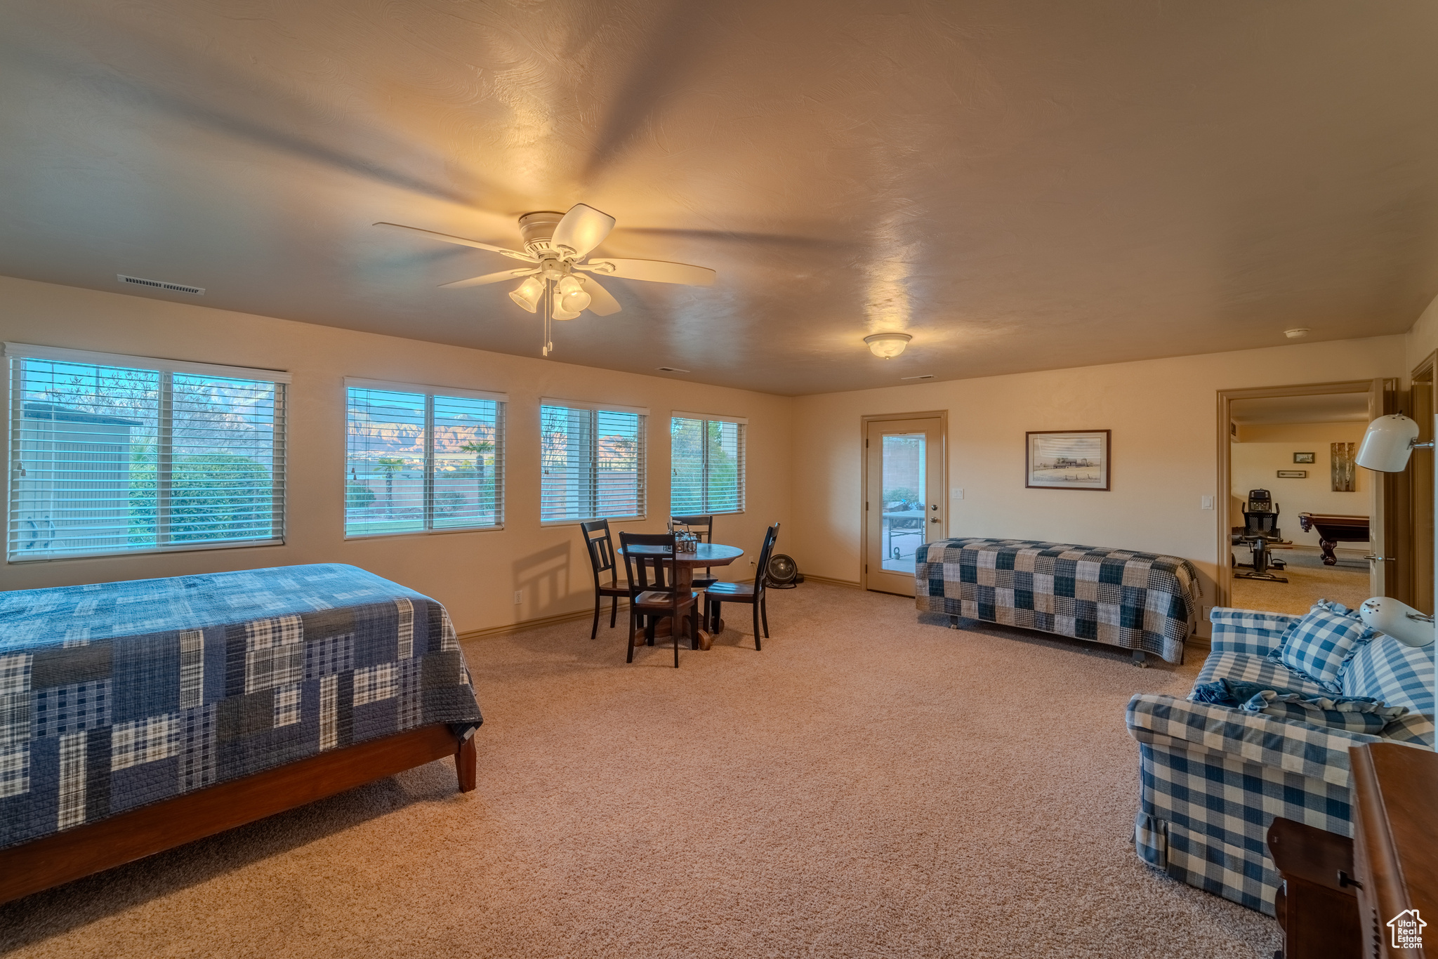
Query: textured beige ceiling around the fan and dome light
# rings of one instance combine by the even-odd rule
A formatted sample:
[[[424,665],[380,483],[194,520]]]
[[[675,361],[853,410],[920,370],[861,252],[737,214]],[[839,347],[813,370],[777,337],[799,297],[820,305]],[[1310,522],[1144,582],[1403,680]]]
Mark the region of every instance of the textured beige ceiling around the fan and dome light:
[[[9,0],[0,273],[538,355],[506,285],[436,289],[512,260],[370,224],[584,201],[719,280],[607,280],[567,362],[804,394],[1393,334],[1435,46],[1428,0]]]

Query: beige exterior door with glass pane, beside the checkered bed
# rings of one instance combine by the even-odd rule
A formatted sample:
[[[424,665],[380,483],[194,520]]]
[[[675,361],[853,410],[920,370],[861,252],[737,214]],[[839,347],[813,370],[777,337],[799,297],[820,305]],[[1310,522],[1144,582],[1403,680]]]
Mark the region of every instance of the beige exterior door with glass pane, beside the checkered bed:
[[[943,539],[943,417],[864,424],[864,587],[912,597],[915,549]]]

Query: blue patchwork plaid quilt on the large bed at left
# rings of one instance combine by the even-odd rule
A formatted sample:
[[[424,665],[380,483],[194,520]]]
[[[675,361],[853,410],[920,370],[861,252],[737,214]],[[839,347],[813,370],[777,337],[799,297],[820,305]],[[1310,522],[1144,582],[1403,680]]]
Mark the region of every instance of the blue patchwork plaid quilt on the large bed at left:
[[[480,722],[444,607],[355,566],[0,592],[0,848]]]

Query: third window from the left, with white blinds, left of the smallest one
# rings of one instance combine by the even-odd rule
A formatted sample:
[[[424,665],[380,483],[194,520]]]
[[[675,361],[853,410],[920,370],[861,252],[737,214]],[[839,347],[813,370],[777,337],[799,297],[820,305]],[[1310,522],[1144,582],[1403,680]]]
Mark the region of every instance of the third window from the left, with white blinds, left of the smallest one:
[[[643,518],[649,410],[539,403],[541,522]]]

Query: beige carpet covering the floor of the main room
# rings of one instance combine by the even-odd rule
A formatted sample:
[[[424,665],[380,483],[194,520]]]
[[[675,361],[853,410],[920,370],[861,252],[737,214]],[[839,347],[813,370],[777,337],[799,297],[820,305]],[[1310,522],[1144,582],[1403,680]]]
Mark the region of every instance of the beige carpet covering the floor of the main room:
[[[772,592],[774,638],[572,623],[466,647],[480,788],[437,762],[0,907],[19,956],[1270,956],[1133,854],[1123,706],[1202,653]],[[733,617],[742,620],[741,615]]]

